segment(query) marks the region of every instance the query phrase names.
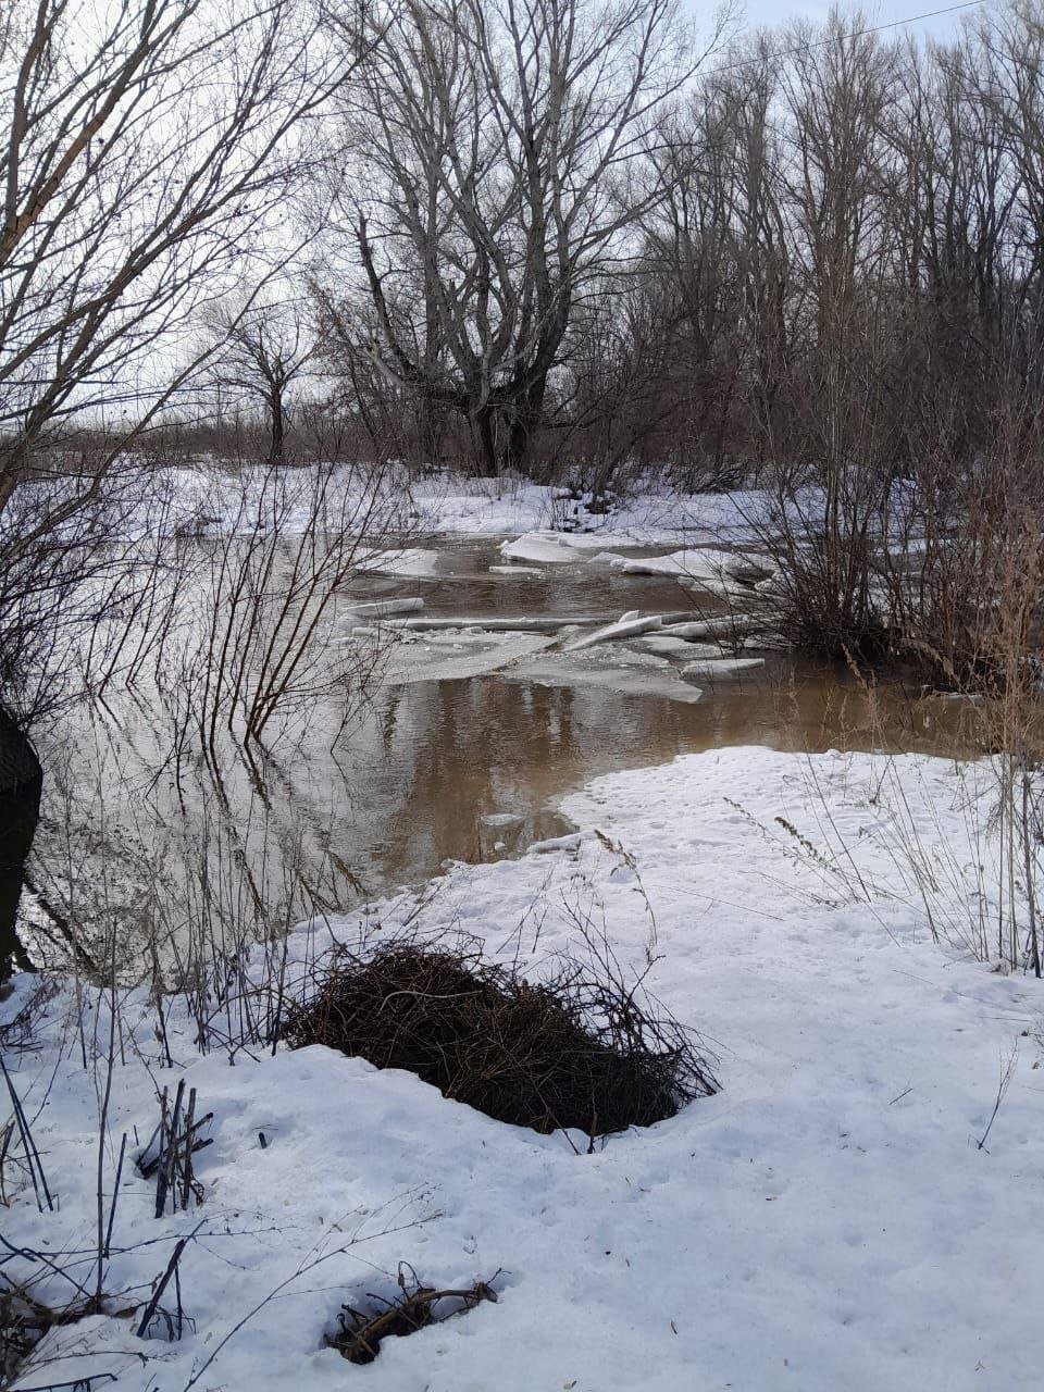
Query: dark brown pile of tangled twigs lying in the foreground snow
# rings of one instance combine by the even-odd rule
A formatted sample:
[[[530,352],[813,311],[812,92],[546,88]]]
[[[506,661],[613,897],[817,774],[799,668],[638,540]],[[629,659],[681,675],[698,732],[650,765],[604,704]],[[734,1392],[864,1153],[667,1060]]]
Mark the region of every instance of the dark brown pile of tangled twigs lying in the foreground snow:
[[[402,1068],[445,1097],[536,1132],[649,1126],[717,1091],[690,1031],[628,984],[611,954],[540,983],[472,944],[338,948],[284,1038]]]

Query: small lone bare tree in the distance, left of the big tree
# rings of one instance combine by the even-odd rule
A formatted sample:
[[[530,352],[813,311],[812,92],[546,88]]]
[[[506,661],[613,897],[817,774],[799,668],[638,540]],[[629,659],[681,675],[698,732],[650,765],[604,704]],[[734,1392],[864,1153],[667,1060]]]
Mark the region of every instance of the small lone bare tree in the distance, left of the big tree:
[[[269,464],[285,454],[288,395],[313,365],[315,334],[299,302],[262,301],[248,308],[237,301],[216,305],[205,316],[216,344],[209,380],[260,404],[269,425]]]

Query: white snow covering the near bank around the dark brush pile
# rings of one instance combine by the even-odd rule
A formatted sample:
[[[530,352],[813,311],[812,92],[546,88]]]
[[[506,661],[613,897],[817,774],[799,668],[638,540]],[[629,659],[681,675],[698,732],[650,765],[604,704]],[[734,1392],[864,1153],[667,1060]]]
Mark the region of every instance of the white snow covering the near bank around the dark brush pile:
[[[718,1096],[592,1154],[324,1048],[200,1058],[178,1002],[166,1068],[155,1009],[127,999],[106,1196],[121,1134],[134,1150],[156,1089],[185,1077],[198,1111],[214,1112],[196,1165],[205,1199],[155,1219],[153,1186],[128,1162],[109,1313],[54,1331],[18,1385],[109,1371],[114,1382],[93,1385],[1037,1389],[1040,987],[931,941],[896,832],[902,806],[930,859],[967,864],[983,855],[969,800],[988,795],[987,766],[728,749],[599,780],[564,803],[578,835],[429,887],[427,930],[521,949],[535,972],[578,915],[604,917],[625,963],[654,954],[651,988],[717,1052]],[[973,883],[942,878],[956,922]],[[383,933],[416,912],[408,894],[362,919]],[[351,937],[358,922],[333,927]],[[33,988],[18,979],[3,1018]],[[67,983],[49,1004],[38,1048],[6,1054],[56,1211],[38,1212],[8,1158],[4,1271],[56,1300],[74,1292],[46,1264],[89,1285],[97,1222],[104,1073],[84,1068],[75,995]],[[107,1012],[85,1004],[102,1047]],[[188,1233],[191,1324],[180,1342],[138,1339],[121,1311],[148,1299]],[[500,1300],[349,1366],[323,1336],[342,1302],[394,1295],[398,1261],[440,1285],[500,1271]]]

